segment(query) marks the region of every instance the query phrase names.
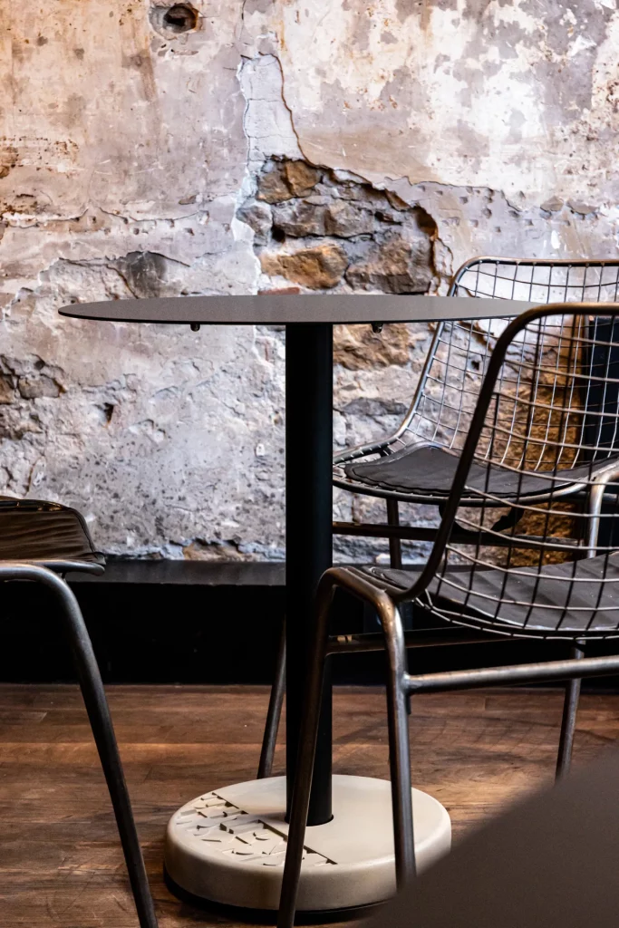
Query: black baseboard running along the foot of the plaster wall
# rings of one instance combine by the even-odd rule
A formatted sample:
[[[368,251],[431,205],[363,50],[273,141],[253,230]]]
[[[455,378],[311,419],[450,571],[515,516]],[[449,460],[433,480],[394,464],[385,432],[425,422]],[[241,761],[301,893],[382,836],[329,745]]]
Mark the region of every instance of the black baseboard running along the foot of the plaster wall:
[[[203,561],[110,561],[101,577],[73,574],[107,683],[270,683],[285,608],[284,565]],[[34,584],[2,586],[0,681],[74,679],[49,593]],[[340,600],[337,632],[372,625],[355,600]],[[592,645],[591,653],[608,651]],[[567,656],[567,644],[519,640],[409,652],[413,672],[519,664]],[[381,684],[380,653],[333,659],[336,683]],[[619,689],[617,680],[589,686]]]

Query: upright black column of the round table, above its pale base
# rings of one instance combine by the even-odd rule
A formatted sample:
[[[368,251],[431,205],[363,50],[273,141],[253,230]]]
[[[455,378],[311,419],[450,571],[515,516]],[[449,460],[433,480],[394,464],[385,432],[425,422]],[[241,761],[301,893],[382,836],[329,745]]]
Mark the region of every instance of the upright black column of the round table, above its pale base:
[[[308,642],[320,575],[331,565],[333,328],[286,327],[286,770],[296,767]],[[328,662],[329,664],[329,662]],[[331,818],[331,683],[325,678],[308,825]]]

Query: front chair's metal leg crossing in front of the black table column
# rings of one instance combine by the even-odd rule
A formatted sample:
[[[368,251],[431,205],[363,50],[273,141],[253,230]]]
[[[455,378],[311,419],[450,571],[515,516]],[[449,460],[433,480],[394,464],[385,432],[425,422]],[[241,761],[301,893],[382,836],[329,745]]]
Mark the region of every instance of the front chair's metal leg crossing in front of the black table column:
[[[334,583],[332,579],[329,575],[323,577],[318,587],[316,629],[305,679],[299,753],[297,755],[296,775],[290,804],[290,829],[286,844],[286,861],[281,883],[277,928],[292,928],[294,924],[294,913],[301,879],[305,827],[309,812],[310,793],[312,792],[322,686],[325,676],[329,613],[333,591]]]

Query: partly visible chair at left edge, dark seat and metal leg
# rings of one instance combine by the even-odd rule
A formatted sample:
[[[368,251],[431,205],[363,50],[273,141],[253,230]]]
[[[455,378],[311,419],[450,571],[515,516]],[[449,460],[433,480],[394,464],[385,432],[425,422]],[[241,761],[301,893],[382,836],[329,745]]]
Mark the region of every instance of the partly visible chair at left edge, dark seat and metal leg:
[[[131,800],[97,659],[64,574],[103,574],[84,518],[59,503],[0,496],[0,582],[28,580],[51,593],[71,647],[84,704],[114,809],[140,928],[157,928]]]

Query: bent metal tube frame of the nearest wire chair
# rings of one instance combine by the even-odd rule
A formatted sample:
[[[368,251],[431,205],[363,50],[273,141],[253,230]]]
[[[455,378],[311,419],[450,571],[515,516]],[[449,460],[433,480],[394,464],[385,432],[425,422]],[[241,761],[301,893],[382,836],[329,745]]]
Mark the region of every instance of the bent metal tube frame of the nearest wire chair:
[[[489,359],[484,383],[472,415],[471,428],[461,451],[451,492],[445,500],[442,519],[428,561],[416,574],[410,575],[408,580],[403,578],[402,574],[404,572],[380,570],[375,566],[367,569],[359,567],[331,568],[322,577],[316,600],[316,629],[308,656],[297,777],[292,797],[290,831],[277,922],[278,928],[291,928],[294,920],[295,900],[301,874],[304,830],[316,752],[320,707],[319,695],[324,676],[324,663],[328,654],[355,650],[354,643],[351,641],[342,638],[329,638],[329,618],[332,598],[336,588],[345,589],[359,599],[368,602],[380,618],[383,647],[388,657],[387,707],[393,794],[395,870],[398,887],[401,887],[406,879],[415,873],[410,755],[406,712],[406,702],[410,700],[411,696],[419,692],[468,690],[501,684],[513,685],[536,683],[542,680],[567,679],[570,681],[572,690],[571,694],[568,692],[566,711],[575,712],[577,687],[581,679],[610,675],[619,671],[619,655],[596,658],[582,656],[582,643],[587,638],[619,638],[619,609],[615,608],[612,596],[610,600],[604,599],[603,596],[604,592],[608,591],[609,585],[613,590],[613,584],[619,582],[619,572],[615,571],[617,559],[615,558],[612,561],[614,555],[619,556],[619,549],[613,548],[612,536],[607,538],[600,536],[602,522],[610,519],[611,526],[613,526],[613,519],[619,517],[619,464],[616,460],[610,462],[606,469],[601,472],[596,470],[593,461],[590,464],[587,481],[590,504],[587,507],[587,512],[579,514],[579,518],[583,519],[587,531],[582,533],[583,543],[580,550],[576,552],[576,557],[574,557],[573,561],[568,562],[571,575],[566,574],[564,576],[561,574],[561,565],[556,568],[552,563],[544,563],[544,556],[549,551],[556,551],[557,549],[555,545],[556,538],[548,530],[549,516],[546,518],[543,538],[531,540],[531,548],[540,551],[538,563],[534,568],[522,569],[517,565],[512,566],[509,561],[510,552],[508,552],[506,564],[489,562],[484,556],[483,533],[479,530],[478,540],[473,545],[474,552],[469,554],[467,565],[460,574],[463,577],[469,576],[468,586],[464,580],[458,581],[458,575],[454,574],[453,561],[457,560],[458,554],[461,553],[461,546],[458,546],[454,533],[458,507],[462,504],[463,499],[469,498],[471,493],[478,497],[477,502],[480,506],[484,506],[484,504],[492,506],[495,503],[495,496],[489,485],[489,477],[484,487],[477,487],[474,492],[471,484],[467,483],[467,481],[471,465],[476,458],[479,459],[478,451],[484,430],[489,429],[490,432],[496,432],[497,393],[500,393],[509,348],[525,329],[531,326],[535,328],[535,325],[537,325],[539,331],[551,316],[589,316],[594,320],[594,332],[590,341],[603,344],[607,348],[616,346],[619,350],[619,339],[615,340],[614,329],[611,329],[610,335],[604,336],[602,340],[598,338],[600,317],[602,319],[610,317],[615,323],[619,319],[619,303],[606,305],[600,305],[600,303],[543,305],[513,319],[498,338],[494,352]],[[524,335],[522,335],[522,338],[524,338]],[[610,351],[606,352],[606,356],[604,375],[599,380],[613,382],[615,387],[619,388],[619,378],[609,377]],[[575,374],[574,376],[582,379],[587,375]],[[581,415],[584,414],[582,409],[580,412]],[[601,422],[608,419],[613,419],[614,424],[619,425],[619,402],[611,398],[607,407],[606,393],[604,393],[604,406],[600,413],[600,429],[597,432],[599,442],[601,441]],[[556,442],[555,444],[559,447],[561,443]],[[608,446],[604,445],[603,450],[607,452]],[[523,458],[526,458],[525,454]],[[526,472],[524,469],[521,471],[522,474]],[[490,469],[487,469],[487,473],[490,473]],[[552,483],[554,485],[554,478]],[[545,511],[550,510],[550,504],[553,501],[551,493],[549,496],[549,504]],[[520,500],[516,497],[514,502],[518,503]],[[614,508],[612,513],[610,513],[611,507]],[[515,526],[512,526],[512,535],[514,535],[514,528]],[[545,542],[548,542],[547,548],[544,547]],[[471,546],[471,540],[467,544]],[[572,549],[571,553],[574,555],[574,549]],[[587,574],[582,573],[582,570],[583,565],[586,566],[587,564],[591,565],[593,574],[585,579]],[[581,574],[579,574],[579,570]],[[471,604],[471,599],[474,600],[479,595],[479,589],[487,588],[487,585],[486,587],[480,587],[480,577],[484,578],[485,576],[487,578],[489,574],[493,576],[503,575],[494,600],[492,603],[484,602],[482,606],[475,601]],[[455,581],[454,576],[456,576]],[[517,595],[510,592],[508,588],[509,581],[514,577],[522,581],[524,585]],[[548,579],[555,581],[558,577],[564,581],[561,589],[565,592],[565,602],[561,604],[559,594],[555,597],[556,601],[552,597],[549,598],[549,601],[547,601],[548,597],[546,599],[542,597],[538,601],[540,584]],[[527,592],[526,583],[531,582],[532,578],[533,588],[529,588]],[[442,592],[442,584],[445,582],[451,582],[454,587],[452,590],[448,589],[446,594]],[[466,589],[463,603],[458,599],[459,593],[454,591],[458,588],[458,582],[460,587]],[[580,592],[588,589],[587,584],[592,583],[597,584],[600,588],[597,590],[597,587],[594,587],[593,590],[589,590],[591,605],[583,607],[582,604],[579,604],[582,603],[582,599],[578,599],[578,596]],[[488,599],[492,598],[488,597]],[[435,618],[443,619],[448,628],[467,627],[477,633],[498,635],[507,639],[537,637],[548,640],[571,640],[574,645],[573,656],[570,660],[550,661],[548,663],[411,675],[406,669],[406,645],[408,642],[399,612],[399,606],[405,602],[414,602],[422,611],[429,612]],[[491,606],[494,612],[492,612]],[[521,616],[518,622],[515,622],[513,619],[514,610],[518,611],[518,609],[522,608],[525,609],[526,615],[523,619]],[[543,616],[542,620],[540,620],[540,614]],[[550,618],[547,621],[548,615]],[[535,618],[532,620],[531,616],[535,616]],[[372,638],[374,639],[376,636]],[[360,640],[358,644],[361,644]],[[371,645],[380,647],[380,643],[374,640]],[[563,734],[562,732],[561,738],[563,738]],[[573,734],[574,728],[571,728],[567,735],[573,737]]]

